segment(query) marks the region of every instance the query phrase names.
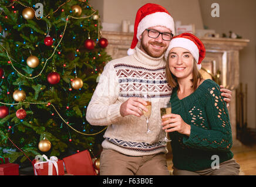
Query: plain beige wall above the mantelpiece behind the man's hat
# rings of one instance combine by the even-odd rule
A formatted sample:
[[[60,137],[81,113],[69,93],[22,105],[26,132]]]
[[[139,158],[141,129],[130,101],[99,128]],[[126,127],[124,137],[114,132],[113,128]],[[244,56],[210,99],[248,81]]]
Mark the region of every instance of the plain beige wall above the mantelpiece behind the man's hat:
[[[198,0],[93,0],[90,5],[99,10],[101,22],[121,24],[122,20],[134,23],[137,10],[149,2],[164,6],[174,20],[180,20],[182,25],[194,23],[197,29],[203,29]]]

